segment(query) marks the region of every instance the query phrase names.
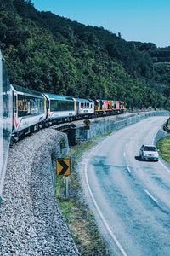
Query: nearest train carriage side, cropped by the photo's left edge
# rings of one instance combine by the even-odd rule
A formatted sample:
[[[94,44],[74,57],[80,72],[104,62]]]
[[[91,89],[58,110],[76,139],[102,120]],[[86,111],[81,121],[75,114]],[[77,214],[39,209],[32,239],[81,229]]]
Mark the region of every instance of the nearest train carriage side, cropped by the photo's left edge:
[[[8,73],[0,51],[0,198],[8,160],[8,148],[13,125],[12,90]]]

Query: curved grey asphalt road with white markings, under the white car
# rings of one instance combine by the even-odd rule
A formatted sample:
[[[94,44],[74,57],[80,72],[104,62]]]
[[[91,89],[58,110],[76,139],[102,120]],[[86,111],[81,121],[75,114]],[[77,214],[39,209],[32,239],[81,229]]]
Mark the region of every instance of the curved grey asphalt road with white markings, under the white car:
[[[160,161],[139,160],[166,119],[113,132],[84,158],[88,200],[114,255],[170,255],[170,172]]]

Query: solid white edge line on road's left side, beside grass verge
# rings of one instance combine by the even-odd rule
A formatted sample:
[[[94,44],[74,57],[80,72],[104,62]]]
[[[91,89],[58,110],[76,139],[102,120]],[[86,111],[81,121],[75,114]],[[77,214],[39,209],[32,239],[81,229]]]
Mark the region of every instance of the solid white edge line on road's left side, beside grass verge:
[[[103,142],[101,142],[101,143],[103,143]],[[91,152],[89,152],[88,155],[94,154],[94,151],[95,151],[97,148],[99,148],[99,145],[100,145],[101,143],[99,143]],[[97,202],[95,201],[95,198],[94,198],[94,195],[93,195],[93,193],[92,193],[92,190],[90,189],[90,185],[89,185],[89,183],[88,183],[88,160],[89,160],[89,159],[86,158],[86,163],[85,163],[85,178],[86,178],[86,183],[87,183],[87,185],[88,185],[88,192],[89,192],[89,194],[90,194],[90,196],[91,196],[91,198],[92,198],[92,201],[94,202],[94,206],[96,207],[96,210],[97,210],[97,212],[99,213],[100,218],[102,219],[103,223],[105,224],[106,230],[108,230],[109,234],[111,235],[111,237],[112,237],[113,240],[115,241],[116,246],[119,248],[119,250],[120,250],[120,252],[122,253],[122,255],[123,255],[123,256],[127,256],[127,253],[124,251],[124,249],[122,248],[122,245],[121,245],[120,242],[117,240],[116,236],[113,234],[113,232],[112,232],[112,230],[111,230],[109,224],[107,224],[107,222],[106,222],[106,220],[105,220],[105,218],[104,218],[102,212],[101,212],[100,209],[99,209],[99,206],[98,206]]]

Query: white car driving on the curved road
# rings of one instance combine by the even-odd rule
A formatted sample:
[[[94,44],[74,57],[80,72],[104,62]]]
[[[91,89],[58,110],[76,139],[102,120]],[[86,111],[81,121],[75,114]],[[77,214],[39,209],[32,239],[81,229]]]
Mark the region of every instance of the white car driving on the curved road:
[[[159,160],[159,154],[154,145],[142,145],[139,156],[141,160]]]

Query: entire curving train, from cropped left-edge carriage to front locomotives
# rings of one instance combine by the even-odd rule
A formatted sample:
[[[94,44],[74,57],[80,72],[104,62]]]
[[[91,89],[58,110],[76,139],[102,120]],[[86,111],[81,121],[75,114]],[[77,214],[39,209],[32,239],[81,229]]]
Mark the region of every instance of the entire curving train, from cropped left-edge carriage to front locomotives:
[[[50,125],[119,114],[124,110],[122,101],[60,96],[10,84],[0,51],[0,181],[8,148],[20,137]]]

